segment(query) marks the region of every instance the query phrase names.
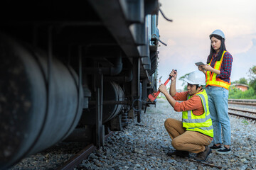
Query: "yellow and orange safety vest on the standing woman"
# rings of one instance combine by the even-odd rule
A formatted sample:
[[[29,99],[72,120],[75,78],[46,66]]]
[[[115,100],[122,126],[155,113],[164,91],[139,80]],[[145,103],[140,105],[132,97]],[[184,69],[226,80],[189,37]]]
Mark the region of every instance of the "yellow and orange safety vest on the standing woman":
[[[224,56],[225,52],[226,51],[223,52],[223,55],[221,56],[220,61],[215,62],[213,69],[217,69],[220,71],[220,67],[223,62],[223,56]],[[213,60],[213,57],[210,60],[210,63],[212,62],[212,60]],[[217,74],[215,74],[214,72],[207,71],[206,72],[206,86],[209,86],[209,85],[210,86],[219,86],[219,87],[224,87],[225,89],[228,90],[231,83],[223,81],[222,79],[217,78],[216,76],[217,76]]]

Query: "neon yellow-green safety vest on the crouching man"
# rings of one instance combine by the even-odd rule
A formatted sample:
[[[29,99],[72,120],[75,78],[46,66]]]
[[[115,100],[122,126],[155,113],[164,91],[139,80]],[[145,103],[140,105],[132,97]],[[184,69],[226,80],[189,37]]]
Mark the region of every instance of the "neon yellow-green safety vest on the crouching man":
[[[186,130],[201,132],[205,135],[213,137],[213,123],[210,118],[210,111],[208,106],[208,96],[206,91],[196,94],[201,98],[201,102],[203,104],[203,114],[202,115],[194,115],[193,111],[183,111],[182,112],[182,124]],[[188,94],[188,99],[192,96]]]

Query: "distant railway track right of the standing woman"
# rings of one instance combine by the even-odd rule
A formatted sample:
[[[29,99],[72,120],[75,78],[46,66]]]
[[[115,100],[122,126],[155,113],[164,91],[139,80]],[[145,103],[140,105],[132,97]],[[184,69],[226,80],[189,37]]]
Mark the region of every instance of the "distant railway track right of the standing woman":
[[[229,104],[235,104],[235,105],[244,105],[244,106],[256,106],[256,100],[254,99],[230,99],[228,100]],[[229,107],[228,108],[228,114],[230,115],[236,115],[238,117],[247,118],[250,120],[256,120],[256,111],[255,109],[245,109],[240,108],[237,106],[237,108]]]

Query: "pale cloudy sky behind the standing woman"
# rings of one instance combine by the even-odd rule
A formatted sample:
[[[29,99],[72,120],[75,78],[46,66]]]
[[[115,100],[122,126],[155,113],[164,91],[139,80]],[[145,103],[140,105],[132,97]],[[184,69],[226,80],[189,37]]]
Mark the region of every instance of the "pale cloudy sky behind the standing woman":
[[[225,46],[233,56],[231,81],[249,79],[249,69],[256,65],[256,1],[255,0],[159,0],[160,40],[158,78],[161,84],[171,69],[178,78],[198,69],[195,62],[206,63],[210,53],[210,33],[220,29],[225,34]],[[177,78],[177,80],[178,80]],[[176,81],[176,89],[183,89]]]

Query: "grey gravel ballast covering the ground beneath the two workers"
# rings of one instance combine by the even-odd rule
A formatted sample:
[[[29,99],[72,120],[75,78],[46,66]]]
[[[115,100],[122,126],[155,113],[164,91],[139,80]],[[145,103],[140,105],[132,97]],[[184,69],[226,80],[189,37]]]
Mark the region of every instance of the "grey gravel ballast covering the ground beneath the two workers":
[[[250,108],[252,109],[252,108]],[[151,106],[142,111],[142,123],[137,118],[130,119],[124,130],[114,133],[105,146],[92,152],[88,159],[75,168],[80,169],[217,169],[215,167],[190,162],[180,157],[169,157],[167,152],[174,150],[171,138],[164,128],[167,118],[181,120],[168,101],[159,98],[156,108]],[[230,116],[231,149],[228,155],[211,153],[206,162],[223,169],[256,169],[256,124],[254,121]],[[210,144],[212,145],[212,144]],[[68,144],[70,146],[70,144]],[[66,148],[68,147],[66,146]],[[59,146],[60,147],[60,146]],[[73,146],[78,152],[78,146]],[[65,148],[64,148],[65,149]],[[47,149],[49,150],[49,149]],[[42,152],[23,159],[14,169],[56,169],[73,152]],[[196,154],[191,153],[191,158]]]

